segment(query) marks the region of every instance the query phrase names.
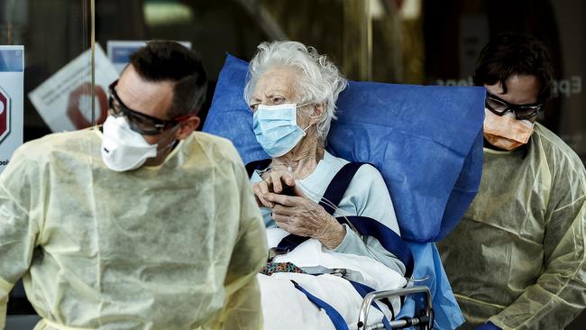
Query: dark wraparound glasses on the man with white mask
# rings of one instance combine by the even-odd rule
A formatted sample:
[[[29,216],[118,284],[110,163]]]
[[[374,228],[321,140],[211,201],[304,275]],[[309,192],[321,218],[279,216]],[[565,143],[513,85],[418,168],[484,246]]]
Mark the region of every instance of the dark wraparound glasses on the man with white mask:
[[[124,105],[116,93],[116,89],[114,88],[116,85],[118,85],[117,79],[110,84],[110,87],[108,87],[110,92],[110,96],[108,96],[108,108],[110,109],[110,114],[115,117],[124,115],[128,120],[128,125],[136,133],[141,133],[143,135],[159,135],[169,127],[179,124],[181,121],[188,118],[188,115],[180,115],[179,117],[165,120],[135,111]]]

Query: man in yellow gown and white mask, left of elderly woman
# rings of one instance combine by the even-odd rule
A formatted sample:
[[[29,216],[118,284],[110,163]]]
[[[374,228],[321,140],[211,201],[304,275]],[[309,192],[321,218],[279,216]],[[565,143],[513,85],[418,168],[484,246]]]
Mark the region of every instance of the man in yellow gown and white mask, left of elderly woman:
[[[25,143],[0,175],[0,329],[23,277],[42,329],[255,329],[266,235],[242,160],[195,133],[206,72],[151,41],[102,127]],[[65,118],[64,118],[65,120]]]

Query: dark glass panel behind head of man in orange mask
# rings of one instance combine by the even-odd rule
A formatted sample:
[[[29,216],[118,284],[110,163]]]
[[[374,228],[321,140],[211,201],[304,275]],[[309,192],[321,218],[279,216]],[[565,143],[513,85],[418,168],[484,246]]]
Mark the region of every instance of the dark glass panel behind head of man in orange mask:
[[[408,1],[406,1],[407,3]],[[423,2],[426,84],[471,86],[481,48],[502,32],[526,32],[545,43],[555,69],[554,98],[538,121],[586,161],[586,95],[582,89],[586,6],[569,1]]]

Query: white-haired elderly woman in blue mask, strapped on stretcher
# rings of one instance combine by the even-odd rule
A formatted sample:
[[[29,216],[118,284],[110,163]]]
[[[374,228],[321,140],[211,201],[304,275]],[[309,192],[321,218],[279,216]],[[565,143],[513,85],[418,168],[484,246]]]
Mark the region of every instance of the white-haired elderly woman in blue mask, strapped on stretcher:
[[[244,97],[253,112],[257,141],[271,157],[251,178],[269,248],[274,252],[287,237],[308,238],[287,252],[272,253],[265,271],[270,276],[259,275],[267,329],[332,328],[334,318],[310,302],[304,290],[355,326],[362,296],[348,280],[373,289],[406,284],[405,266],[377,238],[357,233],[351,222],[341,225],[336,220],[368,216],[399,234],[379,171],[363,165],[337,205],[324,198],[336,173],[348,163],[325,151],[335,102],[346,85],[330,60],[295,41],[261,43],[250,63]],[[324,206],[332,207],[333,214]],[[393,306],[397,312],[398,302]],[[381,310],[388,314],[385,308]]]

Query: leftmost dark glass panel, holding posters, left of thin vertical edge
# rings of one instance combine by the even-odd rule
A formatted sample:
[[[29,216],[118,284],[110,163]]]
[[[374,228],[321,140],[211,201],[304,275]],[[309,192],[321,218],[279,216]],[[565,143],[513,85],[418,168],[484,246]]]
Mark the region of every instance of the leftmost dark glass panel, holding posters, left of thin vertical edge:
[[[89,0],[0,0],[0,89],[8,91],[11,99],[10,113],[0,111],[0,122],[3,115],[9,115],[11,124],[9,135],[0,139],[0,171],[14,151],[5,148],[14,142],[11,137],[17,137],[15,144],[20,145],[51,132],[96,123],[91,109],[90,57],[78,58],[90,48],[89,19]],[[23,46],[19,50],[23,52],[20,81],[20,72],[2,69],[14,68],[5,50],[15,45]],[[72,61],[75,67],[67,67]],[[2,96],[0,110],[6,110],[1,101]],[[35,314],[21,282],[16,283],[8,302],[8,315],[18,314]],[[32,328],[35,322],[34,317],[9,317],[6,329]]]

